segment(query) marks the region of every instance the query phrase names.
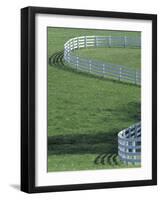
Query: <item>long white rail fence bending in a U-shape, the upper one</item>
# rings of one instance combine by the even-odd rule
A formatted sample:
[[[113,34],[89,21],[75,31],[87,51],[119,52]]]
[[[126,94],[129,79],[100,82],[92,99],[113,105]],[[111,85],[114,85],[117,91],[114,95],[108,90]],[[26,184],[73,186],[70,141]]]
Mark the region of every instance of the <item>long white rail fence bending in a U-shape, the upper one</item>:
[[[68,40],[64,44],[64,60],[71,67],[98,76],[108,77],[119,81],[141,84],[140,70],[103,63],[93,59],[77,56],[74,51],[80,48],[90,47],[122,47],[140,48],[140,37],[113,37],[113,36],[82,36]]]

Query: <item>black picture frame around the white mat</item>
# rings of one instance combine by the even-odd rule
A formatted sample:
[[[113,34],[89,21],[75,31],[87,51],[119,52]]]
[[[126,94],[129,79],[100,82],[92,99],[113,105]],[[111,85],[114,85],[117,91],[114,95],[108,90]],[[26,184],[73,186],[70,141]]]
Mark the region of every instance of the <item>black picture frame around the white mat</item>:
[[[35,15],[62,14],[152,21],[152,179],[107,183],[35,186]],[[21,9],[21,190],[58,192],[157,184],[157,15],[45,7]]]

